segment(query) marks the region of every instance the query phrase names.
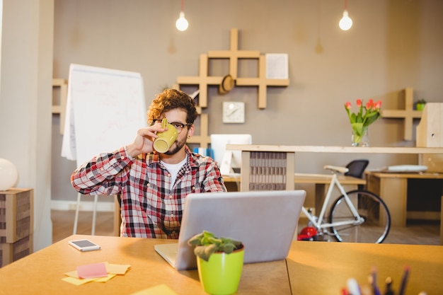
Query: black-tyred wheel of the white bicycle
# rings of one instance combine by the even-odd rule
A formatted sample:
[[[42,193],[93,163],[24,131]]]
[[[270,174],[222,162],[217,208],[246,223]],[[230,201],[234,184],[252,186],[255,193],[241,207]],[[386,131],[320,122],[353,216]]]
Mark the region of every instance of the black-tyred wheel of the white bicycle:
[[[330,229],[337,241],[352,243],[381,243],[388,236],[391,215],[386,204],[378,195],[367,190],[346,192],[359,215],[364,219],[361,224],[332,226]],[[356,220],[342,195],[330,208],[329,222]]]

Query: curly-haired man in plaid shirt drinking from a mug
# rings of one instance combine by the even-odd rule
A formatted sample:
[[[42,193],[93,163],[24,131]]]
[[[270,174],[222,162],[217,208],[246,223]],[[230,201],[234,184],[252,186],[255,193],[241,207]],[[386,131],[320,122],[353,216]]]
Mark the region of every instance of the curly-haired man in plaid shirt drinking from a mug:
[[[153,149],[166,117],[178,137],[164,154]],[[100,154],[71,175],[72,186],[84,195],[120,195],[120,236],[178,238],[185,197],[190,192],[226,192],[212,158],[192,154],[186,140],[194,134],[195,101],[182,91],[167,89],[148,110],[149,127],[134,141]]]

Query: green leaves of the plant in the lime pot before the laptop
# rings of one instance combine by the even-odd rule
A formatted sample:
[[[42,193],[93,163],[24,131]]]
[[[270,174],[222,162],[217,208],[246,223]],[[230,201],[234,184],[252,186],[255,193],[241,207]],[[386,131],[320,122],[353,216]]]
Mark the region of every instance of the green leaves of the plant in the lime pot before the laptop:
[[[232,253],[234,250],[241,249],[243,244],[232,238],[217,238],[214,233],[203,231],[188,240],[188,245],[195,246],[194,253],[202,260],[209,260],[212,253],[224,252]]]

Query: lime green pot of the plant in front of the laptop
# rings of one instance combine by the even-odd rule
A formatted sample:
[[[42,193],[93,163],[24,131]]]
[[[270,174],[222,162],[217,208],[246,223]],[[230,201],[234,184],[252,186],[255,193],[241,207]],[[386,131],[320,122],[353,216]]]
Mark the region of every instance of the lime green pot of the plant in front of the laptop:
[[[203,289],[212,295],[233,294],[240,284],[244,247],[233,253],[214,253],[208,261],[197,258],[198,277]]]

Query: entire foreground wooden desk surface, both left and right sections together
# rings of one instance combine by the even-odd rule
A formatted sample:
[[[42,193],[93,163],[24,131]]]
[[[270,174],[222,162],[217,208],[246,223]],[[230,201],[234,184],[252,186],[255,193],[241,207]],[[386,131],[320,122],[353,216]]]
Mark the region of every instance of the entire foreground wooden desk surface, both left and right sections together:
[[[81,253],[69,239],[89,238],[102,249]],[[206,294],[197,270],[177,272],[154,250],[168,240],[112,236],[71,236],[0,268],[0,294],[127,294],[167,284],[177,294]],[[125,276],[106,283],[74,286],[62,281],[78,265],[130,264]],[[236,294],[340,294],[349,277],[367,282],[373,266],[379,284],[391,276],[398,290],[403,266],[409,265],[406,294],[443,294],[443,247],[294,241],[286,260],[245,265]]]

